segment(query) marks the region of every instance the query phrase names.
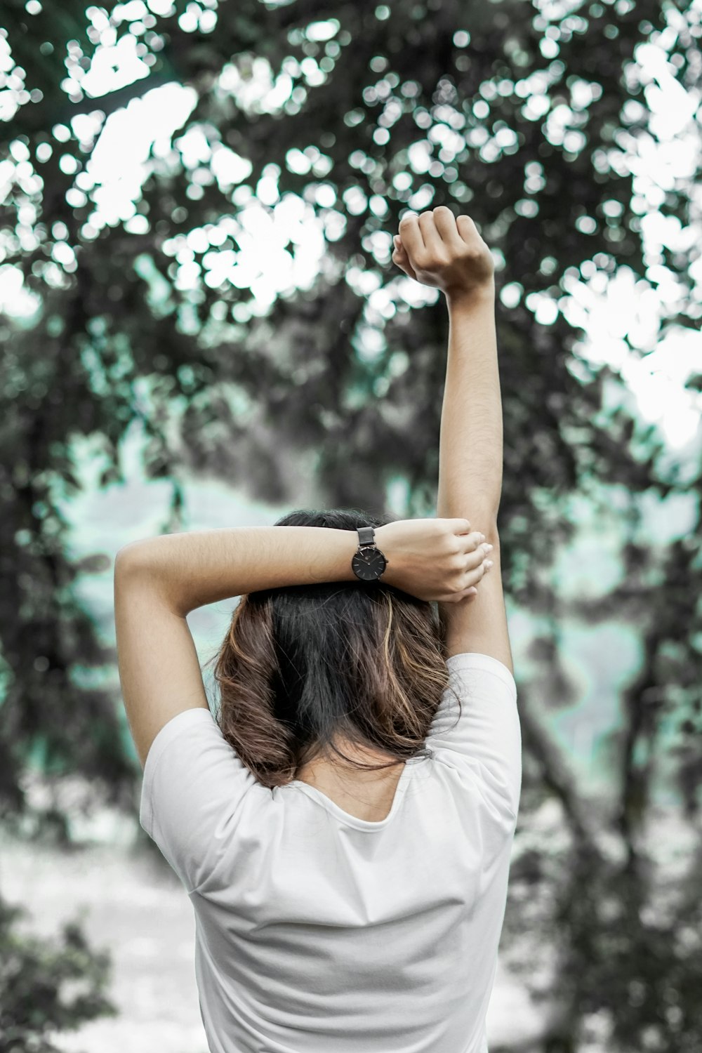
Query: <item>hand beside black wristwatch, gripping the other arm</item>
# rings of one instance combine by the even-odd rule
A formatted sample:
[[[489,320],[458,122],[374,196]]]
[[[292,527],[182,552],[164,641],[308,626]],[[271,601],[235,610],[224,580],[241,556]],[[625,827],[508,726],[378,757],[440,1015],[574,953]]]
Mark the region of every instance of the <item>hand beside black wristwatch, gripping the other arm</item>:
[[[376,528],[375,537],[387,559],[380,580],[418,599],[457,603],[474,596],[489,571],[492,545],[470,533],[467,519],[397,519]]]

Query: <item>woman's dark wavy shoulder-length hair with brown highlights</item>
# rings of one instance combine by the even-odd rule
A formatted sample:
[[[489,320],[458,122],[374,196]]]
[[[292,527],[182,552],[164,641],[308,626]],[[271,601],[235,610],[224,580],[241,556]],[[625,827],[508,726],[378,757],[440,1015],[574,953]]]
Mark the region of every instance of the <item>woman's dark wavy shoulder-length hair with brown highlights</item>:
[[[356,530],[394,518],[358,509],[302,509],[275,525]],[[218,724],[268,788],[289,782],[320,755],[336,754],[364,771],[390,768],[426,752],[448,686],[445,650],[436,603],[382,579],[248,593],[213,659]],[[338,749],[339,737],[392,759],[372,764],[350,758]]]

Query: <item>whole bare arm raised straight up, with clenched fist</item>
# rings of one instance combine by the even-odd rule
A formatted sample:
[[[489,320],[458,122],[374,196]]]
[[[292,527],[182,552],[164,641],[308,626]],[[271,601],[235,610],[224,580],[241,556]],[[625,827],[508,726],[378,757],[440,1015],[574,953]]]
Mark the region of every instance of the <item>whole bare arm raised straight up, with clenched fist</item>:
[[[447,654],[490,655],[514,674],[497,523],[503,452],[493,257],[468,216],[455,219],[440,206],[403,216],[394,259],[410,277],[440,289],[448,309],[437,516],[465,517],[493,545],[493,567],[477,595],[439,603]]]

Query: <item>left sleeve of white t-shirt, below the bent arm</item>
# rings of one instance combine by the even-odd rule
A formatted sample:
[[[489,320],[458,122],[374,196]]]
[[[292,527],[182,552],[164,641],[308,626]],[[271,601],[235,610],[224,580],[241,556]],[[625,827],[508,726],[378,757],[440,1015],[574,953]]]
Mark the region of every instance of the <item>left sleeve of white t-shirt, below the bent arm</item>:
[[[139,821],[188,894],[226,853],[238,809],[254,784],[208,709],[178,713],[152,742]]]

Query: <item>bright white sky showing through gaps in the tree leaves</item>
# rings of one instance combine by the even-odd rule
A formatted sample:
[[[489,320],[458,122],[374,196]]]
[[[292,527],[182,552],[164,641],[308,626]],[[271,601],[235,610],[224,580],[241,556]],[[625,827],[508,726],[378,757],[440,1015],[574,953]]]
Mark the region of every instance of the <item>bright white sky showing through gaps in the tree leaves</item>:
[[[118,5],[118,8],[123,17],[132,21],[143,18],[149,8],[158,15],[161,7],[165,9],[168,6],[168,0],[148,0],[148,8],[142,0],[128,0],[128,3]],[[691,8],[700,13],[697,16],[699,21],[702,0],[694,0]],[[87,14],[96,32],[100,34],[100,44],[87,73],[83,74],[76,63],[81,88],[97,98],[147,77],[148,66],[138,54],[137,37],[127,36],[116,42],[115,31],[109,26],[104,12],[88,7]],[[200,28],[212,32],[217,21],[216,12],[203,9],[200,15],[202,18],[209,18],[212,22],[212,25],[207,23],[206,26],[200,25]],[[183,15],[183,18],[186,17],[187,14]],[[628,267],[623,266],[614,279],[609,279],[598,266],[596,253],[594,261],[583,261],[580,272],[571,269],[565,275],[562,283],[564,292],[560,298],[555,300],[545,294],[531,294],[526,297],[526,306],[543,324],[551,323],[561,311],[574,324],[582,325],[587,337],[579,345],[579,354],[594,363],[607,362],[620,370],[637,399],[644,421],[658,421],[669,445],[682,454],[683,448],[688,443],[696,448],[702,437],[702,399],[683,386],[693,372],[702,370],[702,340],[699,332],[677,326],[657,341],[658,319],[684,306],[683,290],[676,276],[663,266],[661,249],[666,245],[671,250],[684,250],[695,243],[702,244],[702,186],[698,184],[693,188],[697,216],[694,225],[681,229],[678,220],[660,215],[656,208],[662,203],[666,190],[688,185],[701,163],[702,92],[696,90],[685,93],[676,79],[675,66],[668,61],[667,53],[678,32],[676,18],[681,19],[682,16],[674,9],[670,24],[662,36],[655,43],[639,45],[634,68],[629,69],[629,75],[638,77],[644,85],[650,112],[650,134],[637,140],[631,136],[627,137],[628,152],[624,161],[635,177],[634,204],[635,211],[642,216],[646,278],[637,279]],[[319,22],[310,32],[314,39],[327,40],[337,31],[336,22]],[[462,36],[468,37],[465,33]],[[3,43],[5,42],[0,40],[0,45]],[[316,67],[313,60],[304,61],[309,61]],[[312,66],[308,73],[308,83],[314,91]],[[235,66],[228,65],[220,80],[222,87],[233,93],[239,106],[256,104],[266,112],[279,110],[283,105],[289,97],[292,84],[285,67],[275,77],[267,61],[262,58],[254,60],[249,78],[242,78]],[[69,78],[64,81],[63,86],[71,93]],[[7,112],[8,105],[12,108],[7,94],[0,93],[0,117],[5,119],[12,116],[12,112]],[[208,166],[217,182],[232,195],[234,203],[240,210],[236,218],[223,217],[214,227],[195,230],[166,243],[166,251],[178,263],[177,285],[187,289],[204,273],[204,280],[213,287],[223,281],[232,282],[237,287],[249,287],[256,302],[247,310],[246,316],[264,314],[280,293],[314,285],[325,255],[323,230],[329,240],[340,237],[344,229],[343,214],[334,208],[336,192],[330,183],[323,182],[326,174],[324,158],[313,147],[307,147],[304,153],[290,151],[286,163],[296,172],[309,172],[310,177],[318,180],[315,195],[318,206],[323,210],[323,220],[316,217],[312,205],[301,198],[290,194],[282,198],[279,196],[277,165],[272,164],[264,170],[256,196],[244,186],[234,190],[249,174],[250,165],[245,158],[222,144],[213,148],[202,128],[198,126],[190,127],[184,136],[176,138],[175,143],[172,141],[195,102],[192,88],[171,83],[145,92],[125,110],[113,113],[104,124],[99,113],[96,116],[75,118],[72,122],[74,133],[85,140],[93,140],[97,136],[97,142],[86,171],[77,175],[72,192],[75,194],[73,203],[82,203],[86,197],[94,202],[94,212],[83,227],[85,237],[95,237],[105,224],[117,225],[120,222],[127,231],[139,233],[145,219],[135,215],[135,205],[142,183],[155,164],[149,158],[152,146],[157,159],[164,163],[174,154],[174,145],[177,146],[188,168],[197,171],[198,166]],[[639,105],[635,101],[630,104]],[[539,86],[534,85],[528,105],[541,107],[542,113],[548,108],[543,86],[539,92]],[[563,120],[563,115],[559,116],[558,110],[567,107],[551,111],[549,121]],[[68,134],[68,130],[62,126],[54,130],[59,142],[61,139],[65,141]],[[21,150],[19,153],[21,154]],[[22,158],[16,157],[16,161],[21,163]],[[11,162],[5,162],[4,172],[0,164],[0,199],[11,185],[12,173],[6,166],[8,163],[12,167]],[[421,158],[410,158],[410,163],[413,166],[419,165],[419,171],[425,171],[421,168]],[[420,200],[419,195],[415,195],[415,198],[417,200],[410,199],[408,202],[413,211],[419,212],[430,204]],[[366,204],[376,215],[382,217],[385,214],[383,199],[373,198],[366,203],[360,190],[359,200],[353,194],[344,200],[349,212],[360,212]],[[369,239],[370,251],[375,253],[379,263],[385,264],[389,259],[389,239],[394,233],[379,232]],[[241,246],[240,253],[219,249],[227,234],[236,235]],[[293,252],[285,247],[290,242],[295,245]],[[75,270],[75,261],[71,259],[73,251],[63,244],[63,250],[59,246],[59,256],[55,256],[57,263],[61,263],[66,270]],[[603,249],[604,245],[599,247]],[[196,261],[196,254],[203,252],[204,257],[199,255]],[[508,261],[504,264],[500,260],[498,265],[506,265],[508,272]],[[0,304],[3,309],[16,314],[31,312],[32,298],[28,294],[22,295],[24,291],[19,272],[8,266],[0,267]],[[695,299],[700,302],[702,257],[699,255],[690,275],[696,284]],[[347,280],[368,296],[368,324],[364,337],[365,354],[368,357],[373,357],[382,347],[382,320],[395,313],[395,299],[421,304],[433,302],[439,295],[435,290],[419,286],[399,272],[389,289],[378,287],[377,276],[363,274],[358,269],[348,273]],[[507,306],[515,305],[521,294],[521,286],[513,281],[503,287],[502,299]],[[236,311],[237,309],[235,316],[238,317]],[[242,316],[239,320],[245,319]],[[635,353],[629,350],[625,337],[637,349]],[[691,452],[691,446],[688,450]]]

